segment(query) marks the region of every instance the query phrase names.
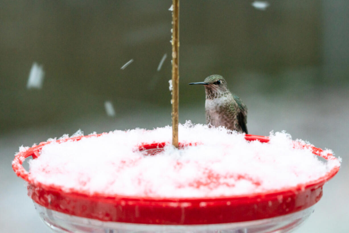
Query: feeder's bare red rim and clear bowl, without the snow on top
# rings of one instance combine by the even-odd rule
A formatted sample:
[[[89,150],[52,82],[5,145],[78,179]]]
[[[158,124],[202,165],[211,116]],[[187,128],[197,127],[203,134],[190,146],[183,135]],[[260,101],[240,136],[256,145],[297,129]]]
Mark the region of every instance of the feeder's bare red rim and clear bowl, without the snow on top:
[[[15,173],[28,182],[28,195],[40,218],[55,232],[288,232],[310,216],[313,205],[322,196],[322,186],[339,170],[339,166],[333,166],[316,180],[279,190],[222,197],[169,198],[67,191],[60,185],[30,179],[22,167],[26,158],[32,156],[36,160],[42,148],[51,143],[76,143],[103,135],[105,133],[47,141],[15,156],[12,165]],[[267,144],[269,138],[247,134],[245,140]],[[143,144],[138,150],[145,156],[154,156],[167,144]],[[197,144],[200,143],[179,143],[179,148]],[[302,147],[310,148],[314,155],[328,161],[337,160],[320,148],[305,144]]]

